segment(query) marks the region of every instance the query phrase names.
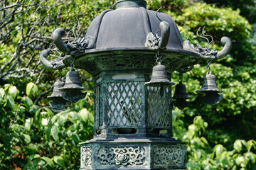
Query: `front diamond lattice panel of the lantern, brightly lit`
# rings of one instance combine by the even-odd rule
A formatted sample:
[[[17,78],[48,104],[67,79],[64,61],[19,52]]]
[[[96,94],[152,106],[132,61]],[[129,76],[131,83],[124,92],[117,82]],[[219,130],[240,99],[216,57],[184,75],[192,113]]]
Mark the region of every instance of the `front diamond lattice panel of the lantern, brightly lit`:
[[[142,86],[138,81],[107,84],[107,125],[141,125]]]

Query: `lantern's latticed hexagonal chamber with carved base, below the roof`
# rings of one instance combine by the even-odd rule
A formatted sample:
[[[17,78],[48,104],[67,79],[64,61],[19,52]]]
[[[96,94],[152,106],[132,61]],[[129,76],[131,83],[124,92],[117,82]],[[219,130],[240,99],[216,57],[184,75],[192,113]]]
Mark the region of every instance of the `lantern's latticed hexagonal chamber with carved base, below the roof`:
[[[94,138],[80,169],[186,169],[186,143],[172,137],[171,86],[145,86],[144,70],[94,77]]]

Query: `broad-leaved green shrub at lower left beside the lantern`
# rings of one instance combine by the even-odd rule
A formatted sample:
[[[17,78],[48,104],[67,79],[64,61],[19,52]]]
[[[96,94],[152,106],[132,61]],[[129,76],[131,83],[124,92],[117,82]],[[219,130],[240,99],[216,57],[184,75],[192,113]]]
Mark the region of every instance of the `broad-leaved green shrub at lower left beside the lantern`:
[[[79,142],[92,137],[93,114],[80,100],[73,108],[54,114],[33,104],[32,82],[27,96],[16,86],[0,88],[0,169],[78,169]],[[90,94],[90,93],[89,93]],[[90,109],[90,108],[89,108]]]

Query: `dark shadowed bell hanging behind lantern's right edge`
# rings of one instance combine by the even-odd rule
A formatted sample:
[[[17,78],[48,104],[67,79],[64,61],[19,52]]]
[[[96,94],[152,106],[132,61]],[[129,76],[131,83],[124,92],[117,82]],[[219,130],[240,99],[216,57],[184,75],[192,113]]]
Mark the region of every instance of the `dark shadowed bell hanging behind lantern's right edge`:
[[[186,85],[182,84],[181,81],[175,86],[174,96],[174,106],[178,109],[183,110],[184,108],[189,106],[189,102],[186,99],[191,98],[186,93]]]

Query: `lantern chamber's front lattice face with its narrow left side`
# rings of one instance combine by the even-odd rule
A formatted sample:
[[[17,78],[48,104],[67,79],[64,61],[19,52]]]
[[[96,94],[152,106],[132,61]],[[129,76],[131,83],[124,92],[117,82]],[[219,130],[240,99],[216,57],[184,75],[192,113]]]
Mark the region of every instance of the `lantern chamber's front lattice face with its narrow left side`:
[[[95,136],[145,136],[144,79],[142,70],[95,77]]]

